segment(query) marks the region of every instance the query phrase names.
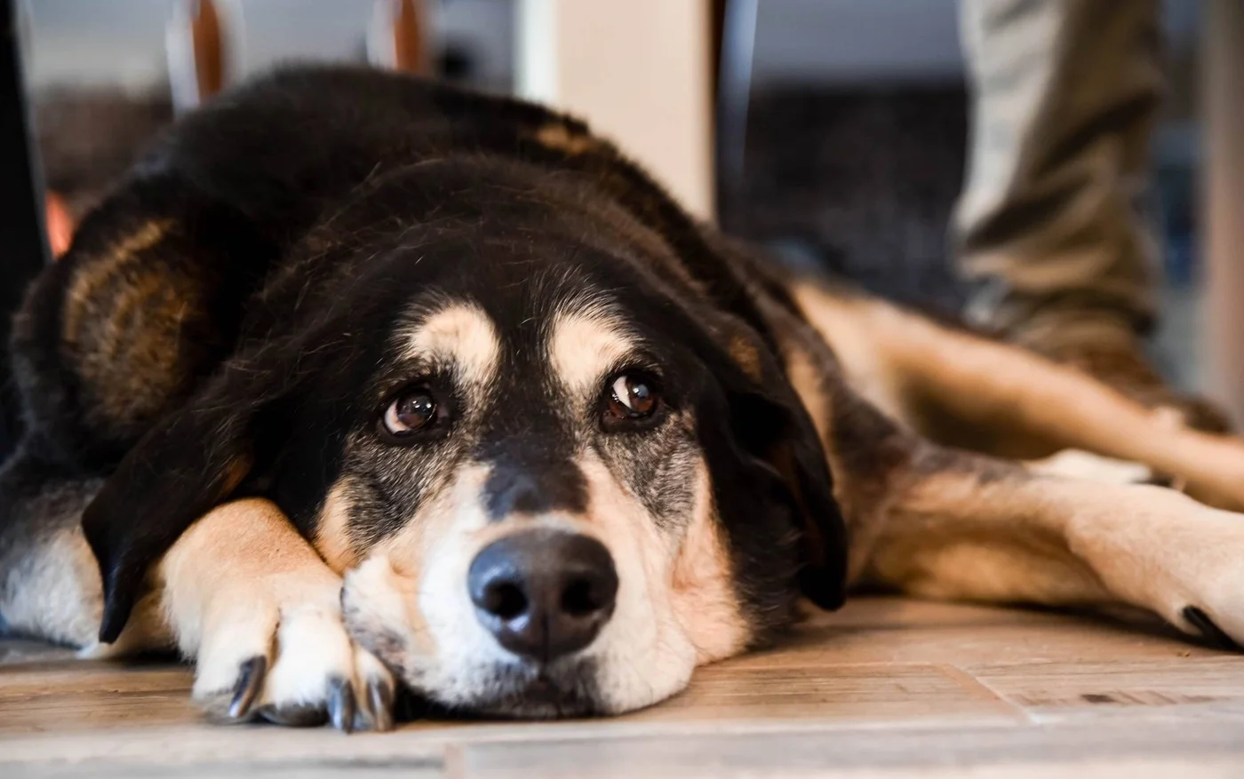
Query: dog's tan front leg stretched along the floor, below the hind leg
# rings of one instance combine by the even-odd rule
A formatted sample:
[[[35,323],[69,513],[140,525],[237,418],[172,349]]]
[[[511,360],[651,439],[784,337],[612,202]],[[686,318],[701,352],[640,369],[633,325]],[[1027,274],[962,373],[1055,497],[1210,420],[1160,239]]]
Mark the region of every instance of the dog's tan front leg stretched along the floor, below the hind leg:
[[[1244,643],[1244,516],[1172,489],[929,448],[862,511],[857,580],[938,597],[1130,604]]]

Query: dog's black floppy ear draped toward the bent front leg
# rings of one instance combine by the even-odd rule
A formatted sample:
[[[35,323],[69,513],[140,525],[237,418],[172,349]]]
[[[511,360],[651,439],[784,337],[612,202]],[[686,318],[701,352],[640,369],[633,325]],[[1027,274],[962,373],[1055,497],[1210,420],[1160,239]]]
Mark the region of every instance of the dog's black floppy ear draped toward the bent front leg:
[[[248,479],[256,441],[270,441],[277,401],[297,383],[296,363],[270,351],[225,362],[178,411],[126,454],[82,514],[103,579],[100,640],[121,635],[148,569],[190,524]],[[290,360],[286,357],[286,360]]]

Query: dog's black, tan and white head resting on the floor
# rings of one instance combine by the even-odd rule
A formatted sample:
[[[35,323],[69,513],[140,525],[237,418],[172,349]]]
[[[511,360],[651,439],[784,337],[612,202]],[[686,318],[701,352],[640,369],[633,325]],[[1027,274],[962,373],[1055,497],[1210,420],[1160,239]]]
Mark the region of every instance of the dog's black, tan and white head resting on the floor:
[[[162,462],[200,500],[243,463],[343,574],[363,646],[506,716],[666,698],[801,591],[837,605],[846,553],[755,324],[631,209],[546,177],[476,159],[373,183],[309,239],[331,261],[265,294],[289,337],[244,347],[159,455],[200,453]]]

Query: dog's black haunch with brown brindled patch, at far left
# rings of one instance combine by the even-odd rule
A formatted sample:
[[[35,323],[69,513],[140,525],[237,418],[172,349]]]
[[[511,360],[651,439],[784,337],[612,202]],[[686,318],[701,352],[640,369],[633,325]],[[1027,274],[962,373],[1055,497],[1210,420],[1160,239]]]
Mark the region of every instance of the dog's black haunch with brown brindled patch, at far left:
[[[233,352],[271,254],[245,217],[178,177],[118,188],[14,317],[14,378],[40,449],[113,468]]]

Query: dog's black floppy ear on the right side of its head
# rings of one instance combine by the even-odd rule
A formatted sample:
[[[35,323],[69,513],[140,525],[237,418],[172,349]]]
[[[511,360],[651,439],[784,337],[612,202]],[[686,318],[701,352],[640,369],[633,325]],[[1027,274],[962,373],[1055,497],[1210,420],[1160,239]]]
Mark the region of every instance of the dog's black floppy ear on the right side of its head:
[[[725,345],[700,345],[720,388],[699,419],[718,514],[738,531],[785,511],[799,534],[800,590],[837,609],[846,599],[847,528],[820,436],[773,352],[749,327],[731,330]]]

